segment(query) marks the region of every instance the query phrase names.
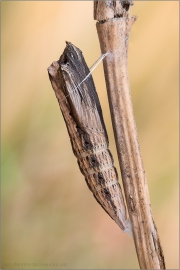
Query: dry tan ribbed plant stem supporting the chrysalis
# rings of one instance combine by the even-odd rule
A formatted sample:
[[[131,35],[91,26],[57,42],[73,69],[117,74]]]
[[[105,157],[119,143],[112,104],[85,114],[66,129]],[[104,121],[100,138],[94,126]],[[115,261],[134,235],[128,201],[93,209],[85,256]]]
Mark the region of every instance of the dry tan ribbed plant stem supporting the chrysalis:
[[[103,62],[104,73],[126,203],[140,268],[165,269],[130,96],[128,40],[136,17],[123,10],[122,1],[115,2],[95,1],[94,17],[101,51],[109,53]]]

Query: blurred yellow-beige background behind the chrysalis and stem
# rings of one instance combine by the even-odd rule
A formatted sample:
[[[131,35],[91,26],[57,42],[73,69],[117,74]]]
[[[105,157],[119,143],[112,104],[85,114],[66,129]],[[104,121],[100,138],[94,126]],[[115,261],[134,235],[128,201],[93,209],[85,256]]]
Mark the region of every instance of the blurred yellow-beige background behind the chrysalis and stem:
[[[155,222],[168,269],[179,269],[179,2],[134,1],[129,73]],[[47,68],[65,41],[100,56],[92,1],[1,3],[1,269],[138,269],[133,240],[80,173]],[[93,72],[118,161],[102,63]],[[119,173],[119,180],[121,177]]]

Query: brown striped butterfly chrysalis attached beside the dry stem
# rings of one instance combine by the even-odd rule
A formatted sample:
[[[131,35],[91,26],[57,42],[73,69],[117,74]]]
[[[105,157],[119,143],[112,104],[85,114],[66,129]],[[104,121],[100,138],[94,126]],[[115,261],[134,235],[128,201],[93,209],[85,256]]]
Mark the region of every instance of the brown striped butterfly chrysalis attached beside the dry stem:
[[[82,52],[69,42],[60,60],[48,68],[86,183],[99,204],[125,231],[128,230],[126,207],[108,149],[108,136],[94,82],[91,75],[87,77],[89,72]]]

